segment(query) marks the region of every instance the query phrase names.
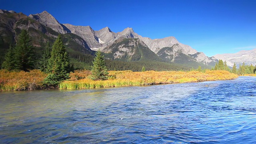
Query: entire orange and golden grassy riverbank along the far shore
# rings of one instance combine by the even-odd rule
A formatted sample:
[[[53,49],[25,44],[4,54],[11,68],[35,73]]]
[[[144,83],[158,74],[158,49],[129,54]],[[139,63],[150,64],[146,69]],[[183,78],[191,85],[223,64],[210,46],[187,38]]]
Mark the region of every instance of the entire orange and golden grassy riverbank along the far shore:
[[[120,86],[142,86],[184,82],[202,82],[212,80],[230,80],[238,75],[224,70],[206,70],[206,72],[132,72],[109,71],[109,79],[93,81],[90,71],[78,70],[70,73],[70,79],[61,82],[60,89],[107,88]],[[47,74],[40,70],[30,72],[9,72],[0,70],[0,91],[44,89],[43,80]]]

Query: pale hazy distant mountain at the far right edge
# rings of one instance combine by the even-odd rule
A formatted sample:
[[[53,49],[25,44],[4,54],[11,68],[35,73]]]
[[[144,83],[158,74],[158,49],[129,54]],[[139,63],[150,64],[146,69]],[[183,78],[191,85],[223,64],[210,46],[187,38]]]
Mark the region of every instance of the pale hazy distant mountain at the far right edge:
[[[256,65],[256,49],[242,50],[234,54],[216,54],[214,57],[223,61],[226,60],[228,66],[233,66],[234,62],[236,62],[236,66],[242,65],[243,62],[246,65]]]

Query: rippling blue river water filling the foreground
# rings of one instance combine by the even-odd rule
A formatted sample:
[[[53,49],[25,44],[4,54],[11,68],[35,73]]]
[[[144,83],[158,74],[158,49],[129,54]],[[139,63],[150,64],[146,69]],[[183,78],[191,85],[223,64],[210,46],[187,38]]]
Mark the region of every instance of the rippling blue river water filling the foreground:
[[[256,143],[256,77],[0,92],[0,143]]]

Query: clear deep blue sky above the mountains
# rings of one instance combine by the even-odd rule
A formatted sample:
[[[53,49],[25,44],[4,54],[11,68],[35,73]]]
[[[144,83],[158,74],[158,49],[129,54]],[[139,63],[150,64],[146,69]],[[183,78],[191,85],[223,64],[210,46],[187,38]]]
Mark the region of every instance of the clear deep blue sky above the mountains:
[[[46,10],[62,24],[94,30],[174,36],[207,56],[256,48],[256,0],[4,0],[0,9]]]

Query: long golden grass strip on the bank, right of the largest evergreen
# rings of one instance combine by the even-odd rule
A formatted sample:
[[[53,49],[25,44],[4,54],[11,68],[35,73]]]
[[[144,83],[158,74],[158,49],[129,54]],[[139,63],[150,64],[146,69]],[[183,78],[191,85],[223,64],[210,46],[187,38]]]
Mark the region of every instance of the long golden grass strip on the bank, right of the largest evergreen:
[[[76,74],[80,75],[80,74]],[[108,80],[93,81],[88,78],[80,80],[66,80],[59,85],[60,89],[84,89],[84,88],[107,88],[120,86],[141,86],[152,84],[170,84],[184,82],[202,82],[210,80],[230,80],[238,75],[224,70],[206,70],[206,72],[132,72],[110,71]]]

